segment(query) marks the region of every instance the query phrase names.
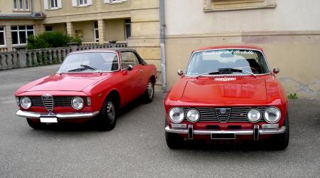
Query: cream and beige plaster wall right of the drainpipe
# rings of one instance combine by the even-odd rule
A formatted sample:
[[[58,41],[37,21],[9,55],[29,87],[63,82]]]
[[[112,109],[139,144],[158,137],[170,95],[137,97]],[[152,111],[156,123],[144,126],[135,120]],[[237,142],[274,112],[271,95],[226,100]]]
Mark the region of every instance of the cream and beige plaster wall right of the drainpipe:
[[[166,0],[166,75],[186,68],[203,46],[251,44],[265,50],[287,93],[320,98],[320,1]]]

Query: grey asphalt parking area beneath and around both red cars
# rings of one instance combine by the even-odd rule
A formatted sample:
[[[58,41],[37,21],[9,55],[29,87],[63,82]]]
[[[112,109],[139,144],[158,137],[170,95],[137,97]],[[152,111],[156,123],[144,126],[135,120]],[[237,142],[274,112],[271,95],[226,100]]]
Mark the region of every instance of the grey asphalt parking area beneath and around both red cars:
[[[17,117],[14,91],[58,66],[0,71],[0,177],[319,177],[320,100],[291,100],[287,150],[257,145],[192,143],[169,150],[164,95],[133,103],[117,126],[33,130]],[[252,146],[255,146],[252,148]]]

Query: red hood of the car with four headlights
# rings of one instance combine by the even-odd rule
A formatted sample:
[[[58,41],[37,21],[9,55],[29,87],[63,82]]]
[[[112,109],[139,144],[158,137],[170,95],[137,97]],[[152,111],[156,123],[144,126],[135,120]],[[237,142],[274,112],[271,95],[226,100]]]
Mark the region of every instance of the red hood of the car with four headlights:
[[[217,78],[188,80],[183,90],[181,101],[192,103],[214,103],[239,101],[266,101],[265,78]]]

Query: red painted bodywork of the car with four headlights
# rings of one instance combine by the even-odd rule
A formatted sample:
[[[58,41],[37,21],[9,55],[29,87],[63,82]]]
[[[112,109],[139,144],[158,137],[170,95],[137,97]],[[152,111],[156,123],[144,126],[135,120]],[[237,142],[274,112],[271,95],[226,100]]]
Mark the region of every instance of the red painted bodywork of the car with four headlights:
[[[215,46],[200,48],[197,51],[218,50],[218,49],[252,49],[262,51],[257,46]],[[193,51],[196,53],[197,51]],[[220,79],[219,79],[220,78]],[[232,78],[231,80],[223,80]],[[275,106],[281,111],[279,127],[284,124],[284,118],[288,112],[287,95],[281,83],[276,78],[275,73],[270,72],[265,75],[235,75],[226,76],[206,76],[196,78],[182,75],[180,79],[169,90],[164,99],[166,110],[166,121],[171,127],[169,110],[174,107],[188,108],[232,108],[232,107],[268,107]],[[219,126],[220,130],[228,130],[228,126],[241,126],[241,129],[252,130],[254,125],[268,124],[267,122],[189,122],[183,120],[181,124],[193,125],[193,130],[208,130],[208,126]],[[181,134],[183,137],[188,135]],[[207,135],[206,135],[207,136]],[[195,135],[193,139],[207,138],[204,135]],[[268,137],[269,135],[261,135]],[[238,138],[250,138],[247,135],[240,135]]]

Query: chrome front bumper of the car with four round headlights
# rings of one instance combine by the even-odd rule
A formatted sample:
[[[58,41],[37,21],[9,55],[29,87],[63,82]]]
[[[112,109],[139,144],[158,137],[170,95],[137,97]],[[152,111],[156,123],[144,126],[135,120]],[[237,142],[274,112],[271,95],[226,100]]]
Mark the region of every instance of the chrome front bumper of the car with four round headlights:
[[[170,128],[167,125],[164,128],[165,132],[177,133],[177,134],[188,134],[188,129],[178,129],[178,128]],[[272,134],[281,134],[286,131],[286,127],[282,126],[277,129],[259,129],[260,135],[272,135]],[[235,135],[253,135],[252,130],[193,130],[193,135],[211,135],[211,134],[223,134],[230,133]]]

